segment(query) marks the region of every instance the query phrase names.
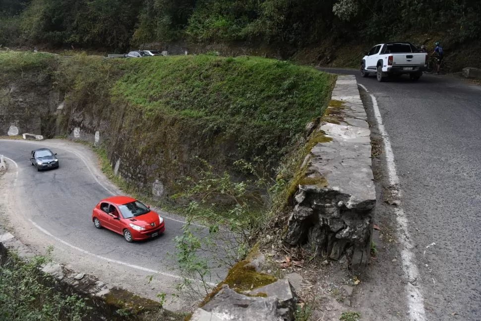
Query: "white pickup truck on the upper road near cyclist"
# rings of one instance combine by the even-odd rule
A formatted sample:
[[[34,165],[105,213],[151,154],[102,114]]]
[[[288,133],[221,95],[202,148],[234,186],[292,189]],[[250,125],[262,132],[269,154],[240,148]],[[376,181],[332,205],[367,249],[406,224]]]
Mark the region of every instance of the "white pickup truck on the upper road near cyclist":
[[[427,66],[427,53],[409,42],[390,42],[372,47],[361,62],[362,77],[376,73],[378,81],[386,77],[409,74],[418,80]]]

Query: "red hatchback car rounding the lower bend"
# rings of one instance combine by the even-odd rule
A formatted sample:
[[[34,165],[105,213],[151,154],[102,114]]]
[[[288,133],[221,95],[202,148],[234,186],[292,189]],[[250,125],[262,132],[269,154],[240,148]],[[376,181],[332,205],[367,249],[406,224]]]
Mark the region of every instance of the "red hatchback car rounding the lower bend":
[[[96,228],[119,233],[127,242],[150,239],[165,231],[159,214],[128,196],[102,199],[92,211],[92,221]]]

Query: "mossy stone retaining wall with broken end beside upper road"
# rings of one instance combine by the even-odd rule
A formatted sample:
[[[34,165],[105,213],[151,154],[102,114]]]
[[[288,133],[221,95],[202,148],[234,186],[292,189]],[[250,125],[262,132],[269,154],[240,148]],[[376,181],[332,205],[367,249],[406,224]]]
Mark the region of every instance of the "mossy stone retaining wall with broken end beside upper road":
[[[302,165],[285,241],[308,244],[319,255],[351,259],[352,268],[369,257],[376,193],[371,170],[370,130],[356,77],[338,77],[332,100],[311,139],[324,135]]]

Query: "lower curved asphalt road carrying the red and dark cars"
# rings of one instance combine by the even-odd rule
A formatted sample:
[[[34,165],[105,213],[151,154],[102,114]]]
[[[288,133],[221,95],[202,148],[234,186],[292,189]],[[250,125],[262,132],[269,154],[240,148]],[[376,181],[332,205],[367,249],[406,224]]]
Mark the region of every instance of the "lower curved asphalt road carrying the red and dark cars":
[[[30,151],[39,147],[58,153],[59,169],[37,172],[31,166]],[[171,255],[175,253],[174,238],[182,233],[181,218],[154,209],[165,218],[164,235],[127,243],[119,234],[97,230],[91,221],[92,209],[100,199],[122,193],[100,173],[97,157],[88,148],[65,140],[3,139],[0,154],[9,163],[0,191],[6,196],[7,215],[0,225],[7,222],[16,237],[35,245],[40,253],[53,245],[57,261],[97,275],[108,284],[154,299],[157,293],[175,292],[179,279]],[[147,284],[149,275],[155,275],[151,284]],[[170,308],[179,308],[179,303]]]

